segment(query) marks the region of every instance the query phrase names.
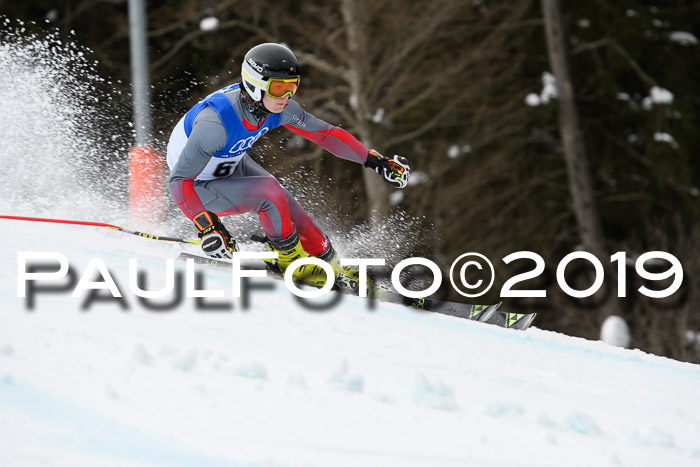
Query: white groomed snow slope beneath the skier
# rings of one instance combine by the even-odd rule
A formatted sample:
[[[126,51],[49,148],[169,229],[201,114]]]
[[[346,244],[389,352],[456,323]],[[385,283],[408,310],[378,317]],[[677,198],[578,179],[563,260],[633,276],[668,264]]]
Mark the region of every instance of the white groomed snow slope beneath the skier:
[[[700,465],[696,365],[358,298],[309,311],[279,282],[247,311],[152,311],[128,259],[155,290],[182,246],[0,225],[3,466]],[[70,292],[27,310],[18,251],[60,252],[78,278],[102,259],[129,310]]]

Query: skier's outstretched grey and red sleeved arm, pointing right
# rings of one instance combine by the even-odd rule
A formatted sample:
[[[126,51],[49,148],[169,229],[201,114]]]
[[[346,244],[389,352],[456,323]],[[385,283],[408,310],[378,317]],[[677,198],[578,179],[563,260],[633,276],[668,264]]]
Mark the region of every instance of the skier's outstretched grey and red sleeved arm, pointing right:
[[[282,112],[282,125],[299,136],[313,141],[336,157],[364,165],[369,150],[357,138],[340,127],[326,123],[289,100]]]

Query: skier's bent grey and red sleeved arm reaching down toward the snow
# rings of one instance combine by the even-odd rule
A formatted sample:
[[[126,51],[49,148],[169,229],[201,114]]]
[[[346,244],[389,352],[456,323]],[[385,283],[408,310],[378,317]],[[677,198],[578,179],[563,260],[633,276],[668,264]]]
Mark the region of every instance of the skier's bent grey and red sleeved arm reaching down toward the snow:
[[[214,118],[207,115],[209,112],[214,114]],[[192,133],[168,180],[170,195],[189,219],[205,210],[194,190],[194,179],[224,144],[226,130],[218,116],[211,109],[202,110],[192,125]]]

